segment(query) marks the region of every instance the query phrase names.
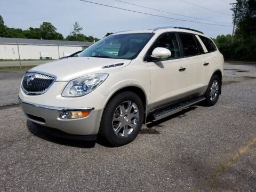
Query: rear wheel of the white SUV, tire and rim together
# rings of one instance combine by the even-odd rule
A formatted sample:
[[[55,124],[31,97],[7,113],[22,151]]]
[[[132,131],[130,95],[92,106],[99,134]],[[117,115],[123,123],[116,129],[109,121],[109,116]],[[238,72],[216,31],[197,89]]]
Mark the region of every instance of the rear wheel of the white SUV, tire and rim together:
[[[217,103],[221,90],[221,81],[218,75],[213,75],[205,92],[206,106],[213,106]]]

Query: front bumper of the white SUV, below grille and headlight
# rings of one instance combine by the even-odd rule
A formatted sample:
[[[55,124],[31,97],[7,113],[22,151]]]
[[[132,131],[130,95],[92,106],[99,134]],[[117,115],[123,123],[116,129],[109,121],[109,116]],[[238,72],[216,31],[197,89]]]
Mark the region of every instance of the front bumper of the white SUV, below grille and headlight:
[[[62,132],[75,135],[95,135],[98,133],[100,125],[100,116],[102,110],[94,108],[60,108],[45,105],[38,105],[22,100],[19,97],[21,108],[27,118],[40,125],[52,127]],[[83,118],[61,119],[59,111],[61,110],[91,110],[90,114]]]

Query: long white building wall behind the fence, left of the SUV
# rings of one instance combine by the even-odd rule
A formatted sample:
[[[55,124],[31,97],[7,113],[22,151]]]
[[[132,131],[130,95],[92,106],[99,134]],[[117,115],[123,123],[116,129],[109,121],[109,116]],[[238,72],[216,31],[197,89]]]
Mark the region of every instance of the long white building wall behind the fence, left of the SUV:
[[[46,53],[52,59],[59,59],[82,50],[82,46],[19,45],[20,59],[40,59]],[[0,59],[19,59],[18,46],[0,44]]]

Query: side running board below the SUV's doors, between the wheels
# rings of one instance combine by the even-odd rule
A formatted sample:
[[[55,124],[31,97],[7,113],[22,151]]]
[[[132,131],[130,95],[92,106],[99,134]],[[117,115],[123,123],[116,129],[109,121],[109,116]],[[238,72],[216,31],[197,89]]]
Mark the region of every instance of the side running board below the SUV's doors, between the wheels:
[[[197,98],[189,99],[187,101],[166,107],[164,109],[157,110],[153,114],[150,115],[149,119],[151,121],[156,121],[158,119],[175,114],[175,113],[177,113],[183,109],[186,109],[188,107],[191,107],[191,106],[195,105],[196,103],[201,102],[203,100],[205,100],[205,97],[197,97]]]

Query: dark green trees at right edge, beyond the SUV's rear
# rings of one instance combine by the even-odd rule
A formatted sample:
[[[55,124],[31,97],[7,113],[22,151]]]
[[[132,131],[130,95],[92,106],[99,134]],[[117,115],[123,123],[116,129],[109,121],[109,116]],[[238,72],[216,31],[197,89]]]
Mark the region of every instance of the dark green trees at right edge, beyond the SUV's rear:
[[[236,15],[234,42],[230,35],[218,36],[214,42],[225,59],[256,61],[256,1],[237,0]]]

